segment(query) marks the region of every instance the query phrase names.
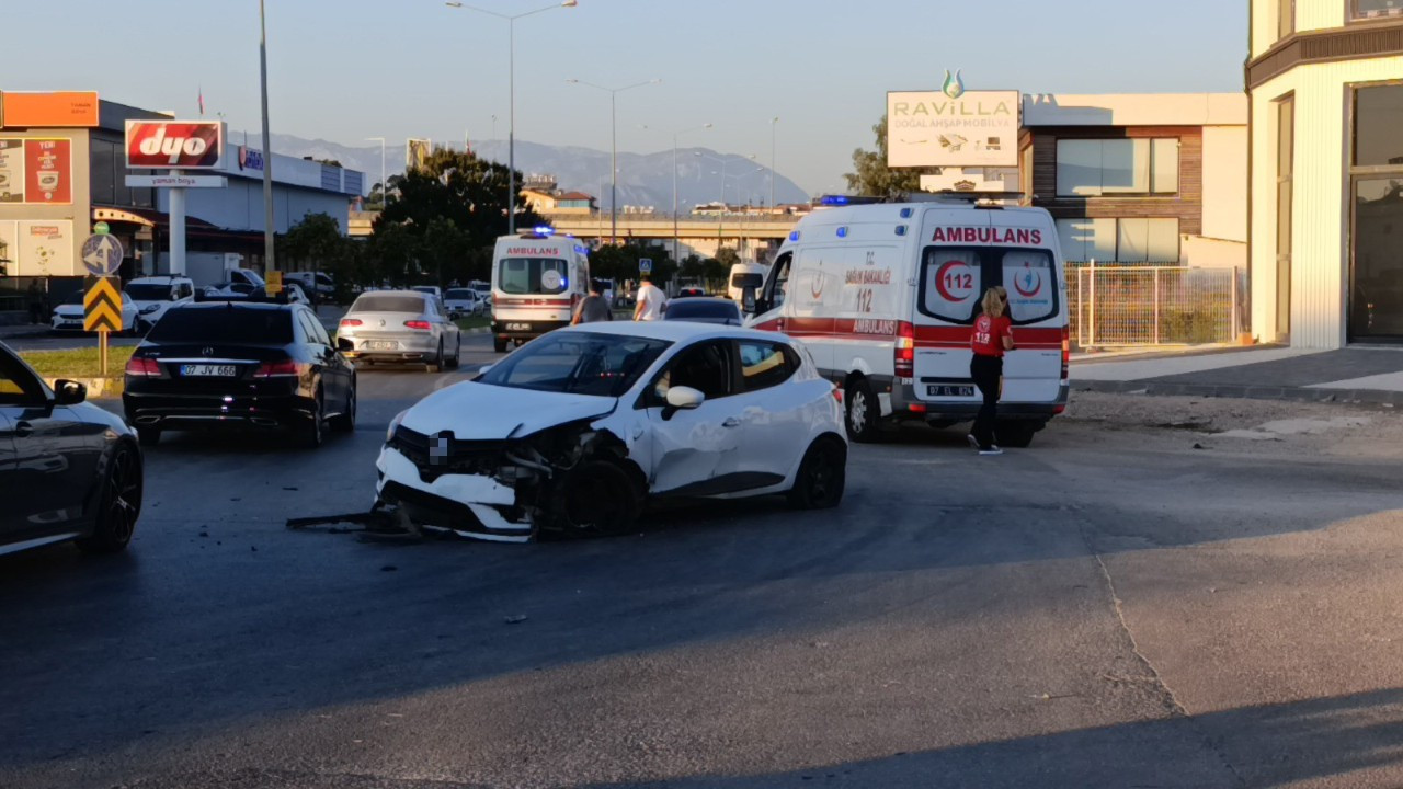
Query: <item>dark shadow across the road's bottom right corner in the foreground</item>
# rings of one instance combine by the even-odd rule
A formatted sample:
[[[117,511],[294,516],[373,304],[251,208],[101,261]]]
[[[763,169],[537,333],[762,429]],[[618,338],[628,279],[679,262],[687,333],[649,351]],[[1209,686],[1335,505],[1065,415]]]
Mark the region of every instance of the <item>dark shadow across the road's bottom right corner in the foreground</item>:
[[[1049,701],[1048,703],[1058,703]],[[944,733],[941,733],[944,734]],[[776,754],[776,761],[788,761]],[[798,760],[793,760],[798,761]],[[1076,729],[1014,740],[891,752],[884,757],[749,775],[586,783],[581,789],[770,789],[776,786],[927,786],[1207,789],[1396,786],[1372,768],[1403,767],[1403,689],[1246,706]]]

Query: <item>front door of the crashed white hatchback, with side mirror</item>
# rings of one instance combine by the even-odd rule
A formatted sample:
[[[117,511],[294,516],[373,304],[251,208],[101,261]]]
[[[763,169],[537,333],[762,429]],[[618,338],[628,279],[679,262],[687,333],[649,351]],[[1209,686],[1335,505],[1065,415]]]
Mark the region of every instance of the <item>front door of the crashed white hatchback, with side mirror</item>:
[[[690,386],[706,400],[692,410],[666,406],[672,386]],[[718,475],[734,468],[741,446],[735,394],[735,350],[730,340],[703,340],[678,351],[644,393],[652,432],[652,493],[711,496],[732,484]]]

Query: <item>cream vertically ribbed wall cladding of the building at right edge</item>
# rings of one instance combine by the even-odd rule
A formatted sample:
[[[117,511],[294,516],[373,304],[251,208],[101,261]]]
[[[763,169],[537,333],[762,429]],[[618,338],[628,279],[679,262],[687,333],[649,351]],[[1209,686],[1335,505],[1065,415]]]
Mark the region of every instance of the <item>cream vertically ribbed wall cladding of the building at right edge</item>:
[[[1340,348],[1350,278],[1345,84],[1399,79],[1403,58],[1376,58],[1298,66],[1253,91],[1251,330],[1260,340],[1273,338],[1277,320],[1274,100],[1294,91],[1296,101],[1291,345]]]

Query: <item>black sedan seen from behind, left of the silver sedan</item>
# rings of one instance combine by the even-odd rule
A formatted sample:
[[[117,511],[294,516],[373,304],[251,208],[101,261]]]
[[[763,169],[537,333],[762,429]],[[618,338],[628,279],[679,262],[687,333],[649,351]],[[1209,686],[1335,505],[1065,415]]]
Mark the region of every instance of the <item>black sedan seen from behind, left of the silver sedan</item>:
[[[126,364],[122,406],[142,444],[163,430],[289,430],[320,446],[355,428],[355,368],[303,305],[171,307]]]

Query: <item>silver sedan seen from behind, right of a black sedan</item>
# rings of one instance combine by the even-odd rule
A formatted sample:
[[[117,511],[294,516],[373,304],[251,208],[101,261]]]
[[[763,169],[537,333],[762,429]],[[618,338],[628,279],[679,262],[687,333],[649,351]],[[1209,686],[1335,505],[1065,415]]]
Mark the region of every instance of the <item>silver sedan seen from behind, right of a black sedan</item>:
[[[463,336],[438,298],[418,291],[361,293],[337,327],[337,348],[352,361],[457,366]]]

